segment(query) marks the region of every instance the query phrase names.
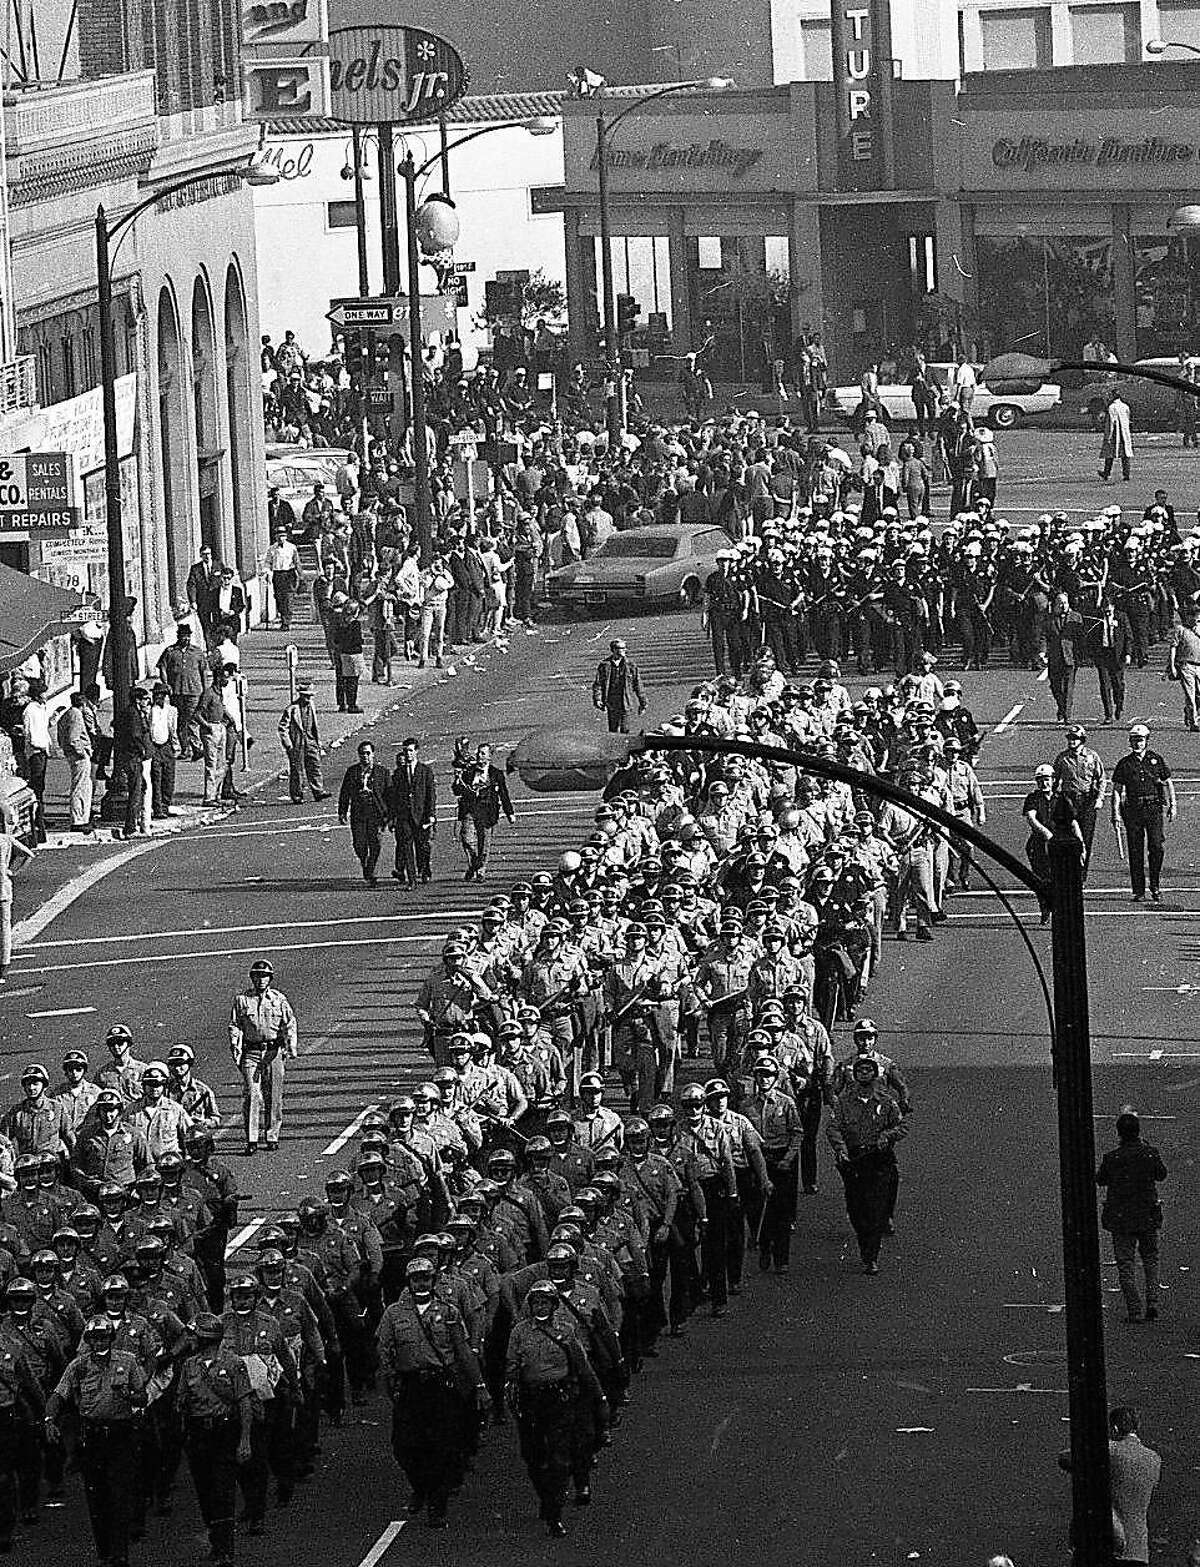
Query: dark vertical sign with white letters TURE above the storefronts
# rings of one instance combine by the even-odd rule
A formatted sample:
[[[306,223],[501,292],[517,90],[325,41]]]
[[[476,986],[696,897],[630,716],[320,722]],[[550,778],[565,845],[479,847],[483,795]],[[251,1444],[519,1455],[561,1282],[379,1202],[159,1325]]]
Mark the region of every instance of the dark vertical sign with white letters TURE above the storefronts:
[[[890,0],[833,0],[832,19],[838,188],[890,190],[893,183]]]

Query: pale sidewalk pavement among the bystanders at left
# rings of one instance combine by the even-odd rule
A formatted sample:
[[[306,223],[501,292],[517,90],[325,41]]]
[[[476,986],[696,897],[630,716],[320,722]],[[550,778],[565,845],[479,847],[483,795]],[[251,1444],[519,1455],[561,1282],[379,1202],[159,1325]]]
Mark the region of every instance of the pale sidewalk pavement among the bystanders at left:
[[[359,686],[359,705],[362,713],[338,713],[334,696],[334,671],[326,653],[324,635],[316,622],[310,605],[298,606],[301,616],[293,619],[291,630],[263,630],[255,627],[248,632],[240,646],[241,672],[246,677],[246,729],[254,746],[249,751],[249,766],[246,771],[235,771],[238,790],[258,793],[277,780],[284,780],[287,794],[287,757],[284,755],[276,733],[279,718],[288,705],[288,644],[296,647],[299,655],[298,675],[305,675],[316,685],[316,721],[321,733],[321,751],[329,752],[359,729],[371,724],[382,713],[396,707],[417,686],[432,685],[440,679],[434,669],[417,669],[417,664],[395,660],[392,664],[392,685],[374,685],[370,677]],[[152,675],[149,677],[154,679]],[[111,719],[111,708],[105,705],[105,722]],[[332,766],[326,765],[326,787],[337,788],[340,776],[332,776]],[[164,837],[183,832],[188,827],[204,826],[208,821],[219,821],[227,816],[232,805],[202,805],[204,763],[180,762],[175,769],[175,815],[169,821],[155,821],[154,837]],[[67,816],[67,765],[61,757],[52,757],[45,784],[45,823],[49,841],[44,849],[103,849],[114,838],[108,823],[97,827],[92,837],[81,837],[69,829]],[[117,823],[119,826],[119,823]]]

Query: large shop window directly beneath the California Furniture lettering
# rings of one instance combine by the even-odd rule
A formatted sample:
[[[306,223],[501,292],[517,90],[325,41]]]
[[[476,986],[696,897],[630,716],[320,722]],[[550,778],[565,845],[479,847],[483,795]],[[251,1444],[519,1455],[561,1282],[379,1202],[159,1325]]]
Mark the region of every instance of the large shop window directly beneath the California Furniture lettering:
[[[1079,359],[1093,337],[1115,337],[1112,241],[978,235],[982,357],[1020,349]]]

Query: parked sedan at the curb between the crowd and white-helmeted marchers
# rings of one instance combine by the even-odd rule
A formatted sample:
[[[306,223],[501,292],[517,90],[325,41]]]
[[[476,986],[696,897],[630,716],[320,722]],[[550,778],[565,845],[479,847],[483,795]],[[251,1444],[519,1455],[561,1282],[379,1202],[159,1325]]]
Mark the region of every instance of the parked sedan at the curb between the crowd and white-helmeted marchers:
[[[586,561],[551,572],[551,603],[606,610],[613,603],[645,603],[658,610],[699,605],[705,578],[727,550],[724,528],[708,523],[672,523],[614,533]]]

